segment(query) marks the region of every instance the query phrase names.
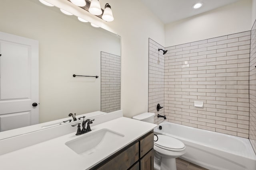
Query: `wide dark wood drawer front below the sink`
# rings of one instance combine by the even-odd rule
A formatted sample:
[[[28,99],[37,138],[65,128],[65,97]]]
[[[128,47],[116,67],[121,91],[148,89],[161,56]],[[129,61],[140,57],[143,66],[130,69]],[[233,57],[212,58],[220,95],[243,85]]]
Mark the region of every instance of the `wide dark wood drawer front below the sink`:
[[[127,170],[139,160],[139,143],[135,143],[108,162],[97,168],[98,170]]]

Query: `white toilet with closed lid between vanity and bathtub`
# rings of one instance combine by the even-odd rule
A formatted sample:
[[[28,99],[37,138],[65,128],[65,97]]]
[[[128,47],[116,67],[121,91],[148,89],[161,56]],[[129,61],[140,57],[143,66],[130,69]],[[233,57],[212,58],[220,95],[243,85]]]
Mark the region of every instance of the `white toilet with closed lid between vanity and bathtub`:
[[[155,113],[142,113],[132,119],[154,123]],[[166,135],[154,136],[154,169],[155,170],[176,170],[176,160],[185,154],[185,145],[178,139]],[[157,140],[157,141],[156,141]]]

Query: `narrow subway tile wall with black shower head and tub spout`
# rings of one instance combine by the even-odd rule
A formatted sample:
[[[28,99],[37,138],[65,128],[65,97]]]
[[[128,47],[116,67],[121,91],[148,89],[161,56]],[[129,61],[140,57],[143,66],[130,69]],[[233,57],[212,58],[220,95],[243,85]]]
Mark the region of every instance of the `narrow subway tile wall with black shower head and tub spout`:
[[[164,108],[156,110],[157,104],[164,106],[164,47],[152,39],[149,39],[148,49],[148,112],[156,113],[154,123],[159,124],[164,121],[157,117],[158,114],[164,115]]]

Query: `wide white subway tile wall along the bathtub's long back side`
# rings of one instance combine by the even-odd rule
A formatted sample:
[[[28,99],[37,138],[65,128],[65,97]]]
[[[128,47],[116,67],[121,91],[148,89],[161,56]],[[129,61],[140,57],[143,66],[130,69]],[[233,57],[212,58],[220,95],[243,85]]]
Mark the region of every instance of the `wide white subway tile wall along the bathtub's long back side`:
[[[159,68],[156,67],[158,47],[152,42],[150,59],[154,62],[150,70],[154,71],[150,71],[150,78],[162,75],[164,68],[164,80],[154,79],[155,86],[150,90],[155,92],[159,87],[159,91],[158,97],[153,92],[150,94],[150,104],[160,97],[162,101],[164,94],[164,114],[168,121],[248,138],[250,35],[251,31],[246,31],[167,47],[164,61],[160,59],[164,66]],[[255,79],[252,81],[256,82]],[[253,89],[256,98],[256,88]],[[194,107],[194,101],[204,102],[204,107]],[[254,112],[254,130],[255,118]]]

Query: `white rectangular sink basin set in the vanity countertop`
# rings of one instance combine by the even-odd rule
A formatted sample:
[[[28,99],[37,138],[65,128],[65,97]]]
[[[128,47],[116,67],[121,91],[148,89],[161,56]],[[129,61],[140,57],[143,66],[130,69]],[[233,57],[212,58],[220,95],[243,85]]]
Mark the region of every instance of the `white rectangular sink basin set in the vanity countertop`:
[[[123,134],[110,129],[100,129],[88,134],[82,134],[81,137],[65,143],[70,149],[80,155],[89,155],[93,153],[104,152],[107,148],[115,148],[116,143]]]

